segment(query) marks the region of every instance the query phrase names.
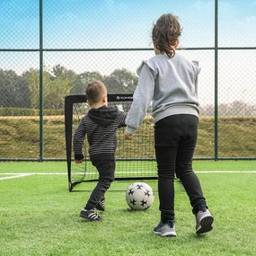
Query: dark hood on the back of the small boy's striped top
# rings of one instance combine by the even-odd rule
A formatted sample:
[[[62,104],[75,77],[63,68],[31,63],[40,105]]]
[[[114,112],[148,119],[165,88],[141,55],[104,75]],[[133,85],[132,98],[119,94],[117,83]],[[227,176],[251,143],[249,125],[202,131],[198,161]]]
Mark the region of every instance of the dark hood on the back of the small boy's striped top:
[[[108,126],[113,122],[118,116],[118,107],[117,106],[102,106],[99,109],[91,109],[88,112],[88,116],[95,123],[100,124],[102,126]]]

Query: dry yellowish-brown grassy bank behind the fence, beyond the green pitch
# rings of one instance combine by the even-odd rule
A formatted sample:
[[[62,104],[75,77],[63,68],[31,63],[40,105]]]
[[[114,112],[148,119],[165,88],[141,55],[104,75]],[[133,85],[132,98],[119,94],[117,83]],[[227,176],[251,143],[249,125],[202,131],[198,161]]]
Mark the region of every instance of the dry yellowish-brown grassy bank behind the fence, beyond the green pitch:
[[[0,158],[39,158],[40,123],[39,117],[0,117]],[[213,117],[200,117],[199,142],[195,158],[209,158],[215,155],[215,126]],[[218,119],[218,156],[254,157],[256,155],[256,118],[219,117]],[[122,157],[154,157],[154,128],[147,119],[140,128],[140,140],[124,142],[124,130],[120,129],[118,152]],[[45,158],[66,158],[64,116],[45,116],[43,122],[43,156]],[[56,143],[57,142],[57,143]],[[142,147],[141,147],[142,146]],[[22,150],[19,150],[22,148]],[[149,154],[149,155],[148,155]]]

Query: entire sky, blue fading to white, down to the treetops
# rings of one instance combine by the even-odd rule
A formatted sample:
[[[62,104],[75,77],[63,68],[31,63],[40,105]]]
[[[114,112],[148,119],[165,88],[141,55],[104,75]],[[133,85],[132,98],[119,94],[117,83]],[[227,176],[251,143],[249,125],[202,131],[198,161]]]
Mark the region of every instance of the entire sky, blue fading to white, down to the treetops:
[[[0,0],[0,49],[39,49],[39,2]],[[213,0],[43,0],[43,48],[152,49],[152,26],[163,13],[179,17],[183,28],[181,48],[213,48],[214,9]],[[219,0],[218,28],[219,47],[256,47],[256,0]],[[212,101],[214,52],[182,50],[182,53],[199,60],[202,84],[207,86],[202,92],[210,94]],[[47,51],[44,64],[49,68],[61,64],[77,73],[97,70],[103,75],[110,75],[116,68],[127,68],[135,73],[141,60],[153,55],[152,50]],[[255,50],[220,51],[219,61],[222,95],[234,87],[234,97],[252,102],[250,97],[254,95],[256,98],[256,84],[252,84],[256,73]],[[13,69],[21,74],[30,67],[38,66],[39,52],[0,52],[2,69]],[[245,88],[244,93],[241,93],[241,84]]]

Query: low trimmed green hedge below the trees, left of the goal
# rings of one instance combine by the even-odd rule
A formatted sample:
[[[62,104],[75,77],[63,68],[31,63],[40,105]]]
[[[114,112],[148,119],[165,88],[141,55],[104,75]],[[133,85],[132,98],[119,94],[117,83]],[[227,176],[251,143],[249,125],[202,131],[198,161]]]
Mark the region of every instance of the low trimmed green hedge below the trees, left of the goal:
[[[1,108],[0,116],[39,116],[40,110],[25,108]],[[64,115],[64,110],[43,110],[44,116]]]

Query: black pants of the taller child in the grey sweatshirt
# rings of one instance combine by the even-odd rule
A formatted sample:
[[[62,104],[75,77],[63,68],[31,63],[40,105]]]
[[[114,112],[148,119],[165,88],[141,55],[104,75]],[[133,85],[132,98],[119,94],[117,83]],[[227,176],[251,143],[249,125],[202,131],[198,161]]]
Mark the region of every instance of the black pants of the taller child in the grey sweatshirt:
[[[154,147],[158,172],[161,219],[174,219],[174,175],[186,190],[192,212],[206,205],[200,182],[192,171],[192,158],[198,139],[199,119],[193,115],[173,115],[154,126]]]

